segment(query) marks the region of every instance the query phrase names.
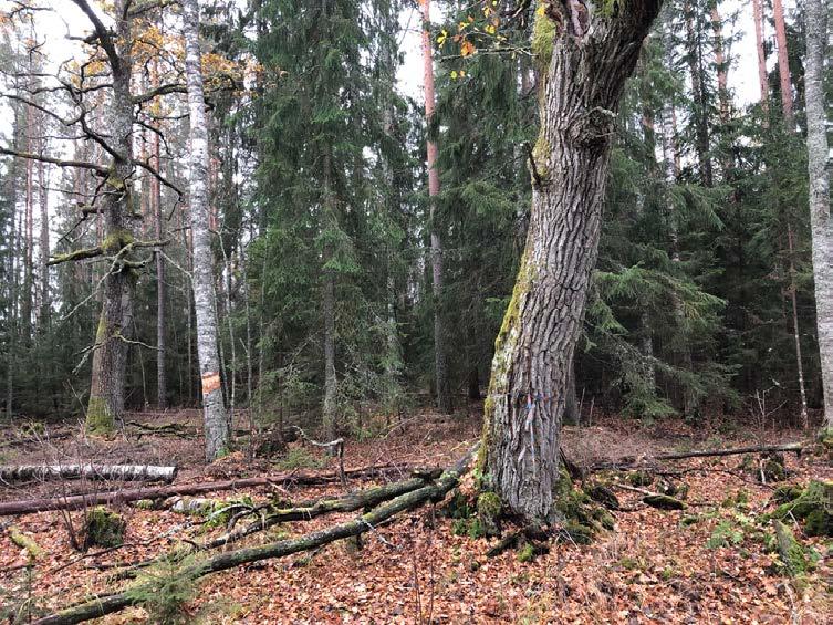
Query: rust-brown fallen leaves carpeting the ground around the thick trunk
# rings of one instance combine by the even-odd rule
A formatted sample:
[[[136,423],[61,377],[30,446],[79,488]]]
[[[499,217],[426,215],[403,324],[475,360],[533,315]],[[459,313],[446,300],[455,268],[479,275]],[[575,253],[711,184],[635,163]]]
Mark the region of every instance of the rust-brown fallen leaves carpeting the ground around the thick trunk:
[[[196,417],[195,417],[196,418]],[[416,424],[404,435],[385,441],[347,446],[347,465],[396,460],[445,465],[477,436],[478,424],[454,430],[450,424]],[[617,423],[596,426],[589,437],[621,440]],[[574,439],[582,433],[570,431]],[[427,439],[436,442],[424,442]],[[199,456],[199,441],[195,457]],[[634,448],[656,440],[628,439]],[[610,446],[608,446],[610,447]],[[571,447],[571,451],[575,448]],[[184,450],[185,451],[185,450]],[[188,457],[190,451],[185,451]],[[721,522],[748,524],[768,510],[771,489],[733,475],[739,459],[693,459],[676,462],[687,471],[689,501],[697,520],[683,523],[680,511],[645,508],[639,493],[627,492],[623,506],[635,509],[616,514],[617,531],[586,546],[560,542],[549,554],[522,564],[509,551],[486,558],[492,545],[485,539],[455,535],[451,521],[430,508],[404,515],[398,522],[363,537],[363,548],[343,541],[311,558],[264,562],[208,577],[199,598],[189,606],[192,614],[209,612],[216,623],[760,623],[791,621],[821,623],[830,608],[822,581],[830,576],[829,562],[819,563],[804,594],[798,594],[772,573],[772,554],[756,538],[743,532],[738,544],[710,549],[708,541]],[[237,458],[229,465],[243,465]],[[226,467],[230,469],[231,467]],[[790,459],[796,481],[831,470]],[[717,471],[715,469],[720,469]],[[196,461],[188,470],[204,471]],[[727,472],[729,471],[729,472]],[[823,477],[822,476],[822,477]],[[180,478],[181,479],[181,478]],[[397,479],[394,477],[393,479]],[[353,488],[356,485],[351,485]],[[469,476],[464,490],[473,487]],[[743,490],[748,510],[736,510]],[[337,486],[292,489],[298,499],[336,494]],[[228,493],[240,497],[242,492]],[[256,501],[269,497],[267,489],[247,491]],[[727,494],[733,507],[723,507]],[[115,590],[108,581],[114,564],[135,562],[174,548],[178,541],[206,539],[199,524],[183,523],[181,515],[166,510],[128,508],[128,546],[77,559],[66,539],[59,513],[30,514],[15,525],[31,535],[44,555],[28,569],[25,553],[0,532],[0,606],[30,593],[38,610],[54,607],[88,593]],[[275,531],[313,531],[350,518],[314,519]],[[170,537],[164,534],[177,525]],[[209,531],[222,531],[215,529]],[[736,531],[736,530],[732,530]],[[264,540],[253,537],[251,540]],[[813,539],[823,553],[820,539]],[[730,541],[731,543],[732,541]],[[17,569],[15,569],[17,566]],[[53,571],[60,570],[54,573]],[[791,594],[792,593],[792,594]],[[2,610],[0,608],[0,613]],[[139,608],[108,623],[140,622]]]

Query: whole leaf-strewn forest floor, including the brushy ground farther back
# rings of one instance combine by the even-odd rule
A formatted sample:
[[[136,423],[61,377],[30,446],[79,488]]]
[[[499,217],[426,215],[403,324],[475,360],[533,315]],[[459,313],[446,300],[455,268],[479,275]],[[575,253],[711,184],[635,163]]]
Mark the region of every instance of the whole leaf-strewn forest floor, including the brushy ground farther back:
[[[199,428],[196,412],[142,413],[146,424],[180,423]],[[454,417],[419,413],[402,427],[364,441],[347,440],[347,468],[369,465],[448,466],[477,439],[476,410]],[[243,452],[206,466],[199,436],[118,437],[91,440],[77,427],[20,425],[0,430],[0,463],[42,460],[176,463],[175,483],[259,476],[289,469],[335,471],[336,463],[313,448],[284,458],[247,459]],[[566,427],[564,449],[579,465],[637,457],[649,461],[660,451],[729,448],[800,440],[798,431],[741,435],[726,428],[690,428],[679,421],[643,427],[633,420],[604,418],[592,427]],[[313,449],[313,450],[311,450]],[[624,510],[615,512],[615,531],[590,545],[555,541],[550,552],[520,562],[518,552],[488,558],[496,539],[457,535],[442,506],[424,507],[364,535],[361,549],[340,541],[311,553],[262,561],[217,573],[186,590],[186,623],[824,623],[833,610],[831,543],[808,539],[814,566],[801,583],[777,572],[767,549],[774,509],[773,485],[761,485],[743,470],[741,456],[695,458],[662,463],[665,472],[688,485],[687,509],[662,511],[642,503],[642,494],[616,489]],[[657,463],[653,463],[655,467]],[[787,458],[788,482],[833,479],[829,459]],[[407,470],[403,471],[407,477]],[[624,473],[608,476],[621,480]],[[387,481],[402,479],[388,473]],[[385,481],[382,480],[382,481]],[[381,480],[351,480],[364,488]],[[627,483],[622,481],[622,483]],[[113,485],[30,482],[0,485],[0,502],[101,490]],[[129,488],[129,487],[128,487]],[[336,482],[320,487],[281,487],[293,500],[340,494]],[[645,488],[650,489],[650,486]],[[265,501],[273,488],[259,487],[205,494],[223,500],[250,496]],[[202,541],[225,528],[206,528],[204,519],[171,509],[146,510],[132,503],[118,511],[127,520],[125,544],[117,549],[72,549],[69,527],[82,511],[49,511],[0,517],[0,615],[17,611],[21,622],[94,593],[114,592],[126,582],[111,577],[118,566],[162,554],[177,544]],[[246,539],[258,544],[301,535],[354,518],[331,514],[285,523]],[[31,560],[10,539],[11,527],[43,551]],[[239,545],[238,545],[239,546]],[[8,617],[8,616],[7,616]],[[102,623],[157,623],[143,607],[104,617]]]

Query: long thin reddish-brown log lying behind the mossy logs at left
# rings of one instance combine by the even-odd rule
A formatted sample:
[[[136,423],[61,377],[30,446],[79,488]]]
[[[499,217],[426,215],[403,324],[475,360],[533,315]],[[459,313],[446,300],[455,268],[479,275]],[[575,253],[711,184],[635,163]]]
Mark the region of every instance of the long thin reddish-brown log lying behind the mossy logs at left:
[[[363,467],[345,471],[351,478],[378,477],[387,473],[407,472],[414,467],[378,465],[374,467]],[[106,492],[90,492],[83,494],[70,494],[46,499],[21,499],[15,501],[0,502],[0,517],[10,514],[29,514],[32,512],[44,512],[48,510],[79,510],[90,506],[115,504],[126,501],[138,501],[139,499],[164,499],[177,494],[199,494],[202,492],[216,492],[219,490],[235,490],[238,488],[253,488],[270,485],[295,483],[303,486],[317,486],[340,482],[341,477],[335,475],[321,473],[277,473],[273,476],[261,476],[254,478],[240,478],[235,480],[180,483],[165,487],[143,487],[133,489],[112,490]]]

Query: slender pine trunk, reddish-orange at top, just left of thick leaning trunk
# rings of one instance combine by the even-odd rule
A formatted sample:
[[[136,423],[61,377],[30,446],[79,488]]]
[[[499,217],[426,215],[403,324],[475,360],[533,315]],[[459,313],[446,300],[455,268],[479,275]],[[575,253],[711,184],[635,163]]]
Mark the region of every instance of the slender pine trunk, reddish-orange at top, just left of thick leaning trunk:
[[[430,35],[430,0],[423,4],[423,63],[425,80],[425,118],[430,126],[434,116],[434,59]],[[428,153],[428,197],[431,238],[431,294],[434,296],[434,373],[437,381],[437,408],[449,414],[452,409],[451,392],[446,361],[446,343],[442,323],[442,240],[436,222],[437,196],[439,195],[439,170],[437,169],[437,144],[427,142]]]

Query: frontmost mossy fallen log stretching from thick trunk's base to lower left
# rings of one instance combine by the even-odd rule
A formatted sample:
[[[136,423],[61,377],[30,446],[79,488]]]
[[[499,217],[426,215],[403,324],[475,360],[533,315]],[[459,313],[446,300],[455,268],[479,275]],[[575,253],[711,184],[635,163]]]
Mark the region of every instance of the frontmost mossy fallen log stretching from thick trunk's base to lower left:
[[[261,546],[251,546],[227,551],[212,558],[186,566],[178,571],[177,576],[188,580],[197,580],[210,573],[226,571],[243,564],[250,564],[261,560],[284,558],[293,553],[311,551],[336,540],[357,537],[376,528],[399,512],[413,510],[427,501],[442,499],[455,486],[460,476],[466,471],[473,456],[475,449],[470,450],[452,468],[445,471],[440,478],[430,485],[426,485],[410,492],[400,494],[385,503],[379,504],[372,511],[345,523],[312,532],[296,539],[288,539]],[[128,605],[139,603],[138,596],[147,596],[156,592],[154,582],[147,582],[128,588],[125,592],[95,597],[91,601],[67,607],[50,616],[34,621],[35,625],[73,625],[91,618],[98,618]]]

